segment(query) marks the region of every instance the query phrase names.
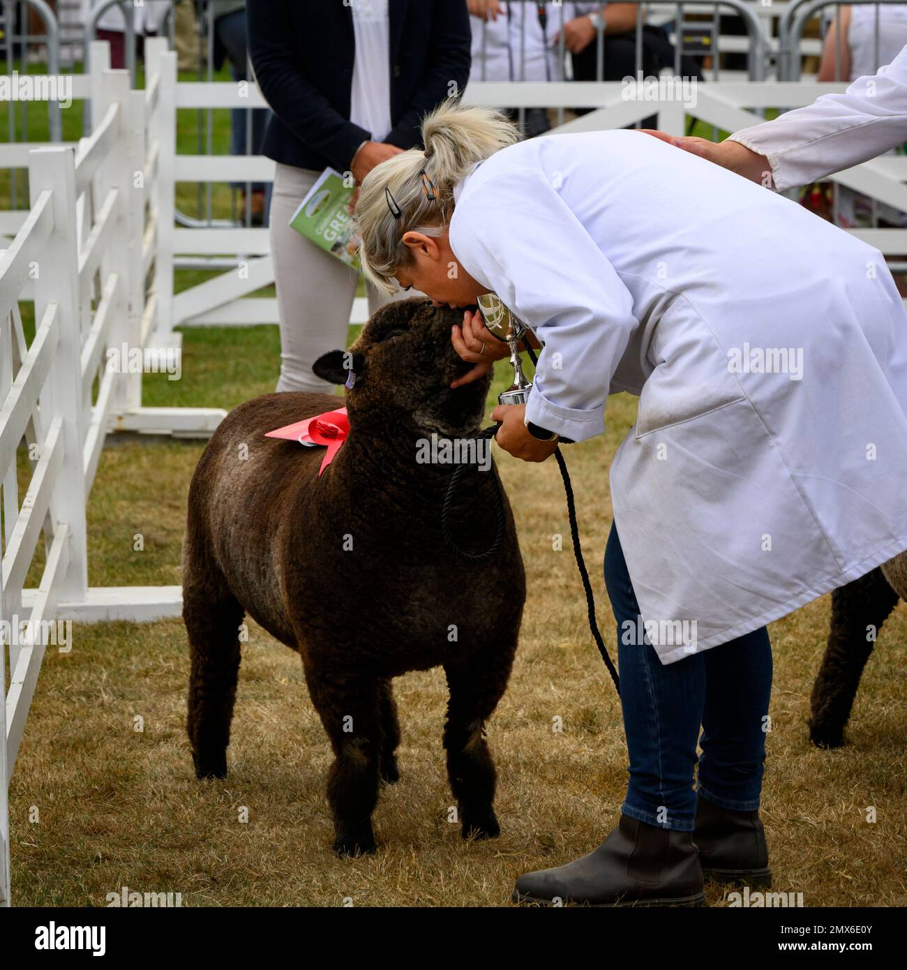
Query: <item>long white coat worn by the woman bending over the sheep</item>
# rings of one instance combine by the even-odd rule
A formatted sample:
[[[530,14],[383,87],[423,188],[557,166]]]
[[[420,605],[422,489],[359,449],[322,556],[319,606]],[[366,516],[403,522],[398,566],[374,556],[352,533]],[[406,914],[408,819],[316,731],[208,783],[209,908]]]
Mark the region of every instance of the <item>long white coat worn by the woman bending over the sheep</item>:
[[[878,250],[632,131],[505,148],[455,197],[457,259],[543,343],[528,420],[588,438],[639,395],[611,499],[663,663],[907,548],[907,313]]]

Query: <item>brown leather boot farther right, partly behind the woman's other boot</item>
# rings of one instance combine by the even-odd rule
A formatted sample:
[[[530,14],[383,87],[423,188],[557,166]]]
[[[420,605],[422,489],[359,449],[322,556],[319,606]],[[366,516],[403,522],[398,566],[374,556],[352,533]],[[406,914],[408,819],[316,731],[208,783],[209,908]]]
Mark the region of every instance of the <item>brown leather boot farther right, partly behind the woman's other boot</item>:
[[[771,886],[768,846],[758,810],[732,812],[699,795],[693,841],[705,876],[721,883]]]

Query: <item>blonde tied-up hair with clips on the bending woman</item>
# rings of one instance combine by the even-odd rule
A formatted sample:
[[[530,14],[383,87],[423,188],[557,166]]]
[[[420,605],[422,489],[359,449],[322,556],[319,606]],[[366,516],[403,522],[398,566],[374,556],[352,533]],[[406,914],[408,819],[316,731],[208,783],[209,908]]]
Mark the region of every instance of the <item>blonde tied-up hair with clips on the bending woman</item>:
[[[397,289],[396,271],[411,261],[401,242],[413,230],[437,236],[453,214],[454,186],[476,162],[520,139],[516,126],[493,108],[466,108],[445,101],[422,119],[421,148],[410,148],[373,168],[363,179],[356,203],[356,230],[362,240],[359,256],[365,275],[385,293]],[[428,197],[421,176],[434,188]],[[400,217],[388,204],[389,189]]]

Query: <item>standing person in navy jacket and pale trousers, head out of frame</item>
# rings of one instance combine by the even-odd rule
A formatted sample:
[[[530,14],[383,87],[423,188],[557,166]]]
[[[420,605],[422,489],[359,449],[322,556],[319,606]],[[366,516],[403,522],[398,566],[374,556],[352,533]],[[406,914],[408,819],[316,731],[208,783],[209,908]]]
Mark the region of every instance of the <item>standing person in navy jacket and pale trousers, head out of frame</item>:
[[[248,0],[248,47],[274,112],[271,246],[280,318],[278,391],[333,391],[311,371],[346,345],[358,275],[289,228],[328,167],[357,182],[420,146],[419,122],[470,76],[466,0]],[[369,310],[387,297],[368,287]]]

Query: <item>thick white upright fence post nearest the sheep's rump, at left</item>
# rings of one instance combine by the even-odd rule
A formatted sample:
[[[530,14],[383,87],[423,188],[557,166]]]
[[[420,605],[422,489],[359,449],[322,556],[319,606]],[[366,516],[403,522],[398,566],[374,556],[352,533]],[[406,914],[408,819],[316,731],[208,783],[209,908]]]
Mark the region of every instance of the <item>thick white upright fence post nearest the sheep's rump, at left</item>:
[[[87,530],[85,526],[82,445],[86,416],[81,406],[81,333],[79,322],[79,246],[76,238],[76,151],[72,146],[36,148],[28,156],[31,204],[52,192],[53,233],[35,280],[35,319],[49,304],[57,305],[60,339],[41,399],[42,417],[49,427],[62,420],[63,462],[59,486],[50,510],[54,521],[69,527],[69,565],[60,584],[60,597],[81,602],[87,596]]]

